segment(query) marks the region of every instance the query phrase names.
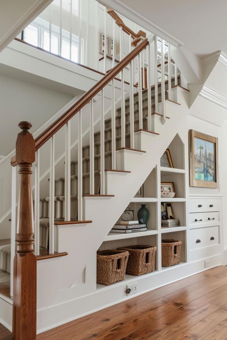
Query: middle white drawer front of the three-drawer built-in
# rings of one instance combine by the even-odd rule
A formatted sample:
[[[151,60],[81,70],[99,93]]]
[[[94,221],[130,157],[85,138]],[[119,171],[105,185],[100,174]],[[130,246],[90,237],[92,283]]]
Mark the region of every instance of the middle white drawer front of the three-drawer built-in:
[[[191,212],[189,214],[189,224],[190,227],[200,228],[201,224],[209,223],[216,225],[219,222],[219,211],[213,212]]]

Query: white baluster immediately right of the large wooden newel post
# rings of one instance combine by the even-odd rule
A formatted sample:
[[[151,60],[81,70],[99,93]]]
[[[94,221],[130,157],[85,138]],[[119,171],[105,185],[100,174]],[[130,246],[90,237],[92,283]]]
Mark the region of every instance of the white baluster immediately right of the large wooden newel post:
[[[35,153],[35,255],[39,255],[39,149]]]

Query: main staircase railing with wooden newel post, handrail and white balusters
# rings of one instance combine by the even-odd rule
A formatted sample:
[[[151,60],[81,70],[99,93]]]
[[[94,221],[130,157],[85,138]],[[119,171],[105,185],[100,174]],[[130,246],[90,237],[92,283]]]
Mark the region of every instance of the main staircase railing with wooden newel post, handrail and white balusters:
[[[115,24],[115,22],[114,22]],[[113,25],[114,31],[114,25]],[[130,32],[129,32],[130,33]],[[136,36],[130,37],[130,52],[117,65],[104,75],[89,91],[87,91],[70,109],[68,109],[59,119],[51,124],[42,134],[35,140],[29,133],[31,124],[21,122],[19,127],[22,132],[18,134],[16,142],[16,156],[12,158],[12,247],[11,258],[14,256],[15,248],[15,229],[17,234],[16,244],[17,250],[14,257],[14,267],[11,264],[11,274],[14,278],[14,322],[13,333],[14,338],[34,340],[36,336],[36,255],[39,255],[39,222],[40,222],[40,154],[42,147],[46,143],[50,143],[50,169],[49,169],[49,254],[54,253],[54,218],[55,218],[55,135],[61,129],[64,129],[65,145],[65,188],[64,188],[64,211],[65,221],[70,221],[71,218],[71,188],[70,188],[70,167],[71,167],[71,119],[78,114],[77,132],[77,204],[78,213],[77,220],[83,220],[83,110],[89,111],[90,116],[90,190],[91,195],[95,194],[95,155],[94,155],[94,97],[100,96],[101,112],[99,117],[100,130],[100,192],[105,194],[105,101],[104,91],[108,84],[112,87],[111,95],[111,154],[112,154],[112,169],[116,169],[116,101],[115,101],[115,82],[121,83],[121,136],[120,146],[126,147],[126,112],[125,112],[125,97],[129,97],[129,126],[130,126],[130,148],[134,149],[134,95],[135,83],[137,83],[137,96],[139,101],[139,130],[143,130],[143,90],[145,89],[145,76],[147,84],[147,100],[148,100],[148,117],[147,130],[152,131],[152,103],[151,103],[151,85],[155,88],[155,106],[153,111],[159,112],[158,105],[158,88],[161,87],[162,101],[162,123],[165,123],[165,83],[168,78],[168,98],[171,99],[171,82],[173,77],[172,67],[168,67],[167,75],[165,68],[165,46],[166,42],[159,39],[157,36]],[[158,51],[158,41],[161,40],[161,51]],[[153,55],[151,55],[151,46]],[[144,56],[146,55],[146,64]],[[158,67],[158,55],[160,55],[161,66]],[[114,55],[113,55],[114,61]],[[135,79],[134,64],[137,63],[137,79]],[[171,65],[170,45],[168,44],[168,65]],[[146,66],[146,73],[145,73]],[[129,85],[125,83],[125,69],[129,70]],[[161,77],[160,77],[161,75]],[[118,78],[118,79],[117,79]],[[120,78],[120,80],[119,80]],[[143,78],[143,81],[142,81]],[[116,80],[117,79],[117,80]],[[158,83],[160,80],[160,83]],[[175,73],[177,81],[177,74]],[[126,87],[127,86],[127,87]],[[127,93],[126,93],[127,92]],[[75,131],[74,131],[75,132]],[[45,151],[46,152],[46,151]],[[45,153],[44,152],[44,153]],[[35,162],[35,179],[34,179],[34,215],[33,215],[33,198],[32,198],[32,181],[31,167]],[[19,197],[17,209],[17,227],[16,227],[16,167],[19,167]],[[33,238],[34,235],[34,238]],[[25,283],[25,284],[21,284]],[[31,284],[32,282],[32,284]],[[25,297],[26,296],[26,297]],[[28,298],[29,297],[29,298]],[[22,312],[26,310],[26,313]],[[29,311],[29,312],[28,312]],[[26,327],[26,325],[29,327]],[[23,336],[21,337],[21,334]]]

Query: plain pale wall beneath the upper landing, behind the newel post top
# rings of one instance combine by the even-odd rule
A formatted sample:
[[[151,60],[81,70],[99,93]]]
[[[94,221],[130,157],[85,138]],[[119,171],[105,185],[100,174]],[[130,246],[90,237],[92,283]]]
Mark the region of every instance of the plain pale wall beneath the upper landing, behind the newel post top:
[[[30,121],[30,131],[34,132],[71,98],[63,92],[0,73],[0,155],[15,148],[20,121]]]

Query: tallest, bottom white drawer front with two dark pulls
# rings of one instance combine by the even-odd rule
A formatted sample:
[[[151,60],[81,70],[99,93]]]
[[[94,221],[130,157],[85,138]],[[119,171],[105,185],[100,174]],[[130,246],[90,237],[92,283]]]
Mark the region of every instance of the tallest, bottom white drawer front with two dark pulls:
[[[190,250],[219,243],[219,226],[190,229]]]

